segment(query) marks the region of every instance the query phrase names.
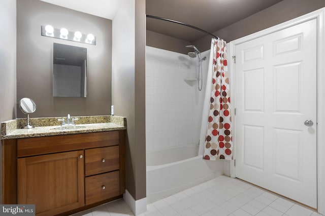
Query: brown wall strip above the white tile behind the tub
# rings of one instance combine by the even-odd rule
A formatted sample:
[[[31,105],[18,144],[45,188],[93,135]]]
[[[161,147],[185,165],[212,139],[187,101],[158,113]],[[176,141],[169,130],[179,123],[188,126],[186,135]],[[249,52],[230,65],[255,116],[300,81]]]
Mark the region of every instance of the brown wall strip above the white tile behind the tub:
[[[189,41],[181,40],[150,30],[147,30],[146,32],[146,45],[149,47],[155,47],[183,54],[187,54],[189,52],[189,49],[185,47],[186,45],[191,45],[191,42]]]

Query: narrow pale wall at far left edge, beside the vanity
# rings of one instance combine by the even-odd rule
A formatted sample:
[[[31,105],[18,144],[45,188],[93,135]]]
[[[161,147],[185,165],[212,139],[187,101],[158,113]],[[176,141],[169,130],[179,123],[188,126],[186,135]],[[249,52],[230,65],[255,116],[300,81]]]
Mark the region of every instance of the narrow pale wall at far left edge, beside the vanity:
[[[0,122],[2,122],[16,118],[16,1],[1,2],[0,20],[2,20],[0,22]],[[1,149],[0,161],[2,161]]]

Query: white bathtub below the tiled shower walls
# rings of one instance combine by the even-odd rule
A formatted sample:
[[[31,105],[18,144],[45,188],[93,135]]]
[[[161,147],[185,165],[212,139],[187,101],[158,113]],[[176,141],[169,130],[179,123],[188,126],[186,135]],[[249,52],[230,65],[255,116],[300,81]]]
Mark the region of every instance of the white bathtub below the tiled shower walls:
[[[147,152],[147,202],[151,203],[223,175],[223,160],[203,160],[199,146]]]

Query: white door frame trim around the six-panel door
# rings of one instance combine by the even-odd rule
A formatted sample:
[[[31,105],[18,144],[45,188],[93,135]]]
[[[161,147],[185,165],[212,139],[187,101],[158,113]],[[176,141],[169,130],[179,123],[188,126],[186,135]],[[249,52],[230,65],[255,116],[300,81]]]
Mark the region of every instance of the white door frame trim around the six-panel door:
[[[239,39],[229,42],[229,55],[228,61],[230,62],[230,88],[232,98],[236,97],[236,87],[235,87],[235,71],[236,64],[233,56],[235,55],[235,48],[237,45],[247,42],[249,40],[271,34],[273,32],[312,20],[317,20],[317,207],[318,212],[325,215],[325,134],[321,133],[325,131],[325,8],[316,10],[314,12],[308,13],[301,17],[295,18],[293,20],[286,21],[284,23],[275,25],[273,27],[267,28],[262,31],[241,37]],[[234,69],[234,70],[233,70]],[[236,124],[236,115],[234,110],[236,108],[236,100],[233,100],[231,104],[232,115],[234,116],[233,125]],[[233,126],[233,137],[236,138],[236,130]],[[234,139],[234,152],[236,152],[236,139]],[[234,154],[234,159],[235,154]],[[322,165],[322,166],[321,166]],[[236,177],[235,173],[235,162],[231,160],[230,162],[230,175],[232,178]]]

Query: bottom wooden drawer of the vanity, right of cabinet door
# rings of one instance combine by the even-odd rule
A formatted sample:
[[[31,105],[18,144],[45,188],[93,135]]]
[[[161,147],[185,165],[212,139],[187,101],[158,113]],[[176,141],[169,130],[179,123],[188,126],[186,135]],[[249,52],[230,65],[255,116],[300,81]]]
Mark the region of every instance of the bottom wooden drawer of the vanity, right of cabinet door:
[[[86,177],[86,205],[120,195],[119,171]]]

